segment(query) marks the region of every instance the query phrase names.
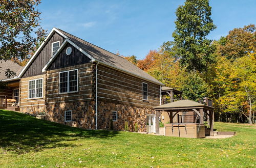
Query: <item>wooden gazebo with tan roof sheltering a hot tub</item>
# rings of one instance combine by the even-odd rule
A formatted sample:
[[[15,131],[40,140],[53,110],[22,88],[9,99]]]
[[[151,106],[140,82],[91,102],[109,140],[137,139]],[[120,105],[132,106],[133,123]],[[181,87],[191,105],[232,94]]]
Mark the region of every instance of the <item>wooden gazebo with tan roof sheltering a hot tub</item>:
[[[164,135],[195,138],[205,137],[205,134],[213,136],[214,107],[206,104],[179,100],[154,107],[157,119],[163,111],[168,113],[170,120],[164,124]],[[159,133],[159,120],[156,121],[156,133]]]

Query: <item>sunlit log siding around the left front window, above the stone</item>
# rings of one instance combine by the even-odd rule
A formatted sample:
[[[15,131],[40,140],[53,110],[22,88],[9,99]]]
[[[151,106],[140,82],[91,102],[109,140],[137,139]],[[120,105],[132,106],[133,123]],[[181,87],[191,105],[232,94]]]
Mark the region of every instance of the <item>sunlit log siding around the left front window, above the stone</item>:
[[[28,98],[29,80],[42,78],[42,98]],[[32,77],[22,78],[20,80],[20,107],[33,107],[33,106],[45,106],[45,94],[46,94],[46,75],[37,75]]]

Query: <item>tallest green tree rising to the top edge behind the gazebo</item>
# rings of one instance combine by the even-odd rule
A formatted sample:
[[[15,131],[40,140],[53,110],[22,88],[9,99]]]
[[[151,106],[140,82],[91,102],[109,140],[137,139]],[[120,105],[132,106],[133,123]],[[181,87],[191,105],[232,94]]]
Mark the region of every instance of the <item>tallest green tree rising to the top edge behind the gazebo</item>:
[[[208,0],[187,0],[178,7],[173,33],[178,47],[177,54],[187,71],[206,71],[207,65],[215,62],[214,46],[206,36],[216,29],[212,22]]]

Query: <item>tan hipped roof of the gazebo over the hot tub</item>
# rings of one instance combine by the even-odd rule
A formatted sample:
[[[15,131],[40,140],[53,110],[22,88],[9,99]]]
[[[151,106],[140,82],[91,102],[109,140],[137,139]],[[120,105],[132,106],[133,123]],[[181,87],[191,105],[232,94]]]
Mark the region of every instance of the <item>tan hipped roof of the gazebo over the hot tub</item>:
[[[155,106],[156,110],[174,110],[174,109],[192,109],[192,108],[207,108],[214,109],[214,107],[193,101],[193,100],[178,100],[171,103]]]

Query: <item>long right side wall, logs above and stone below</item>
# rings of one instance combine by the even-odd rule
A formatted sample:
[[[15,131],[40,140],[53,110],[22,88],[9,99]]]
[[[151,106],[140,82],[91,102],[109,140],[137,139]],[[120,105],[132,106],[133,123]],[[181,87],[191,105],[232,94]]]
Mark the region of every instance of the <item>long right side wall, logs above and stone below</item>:
[[[117,111],[114,130],[146,131],[146,114],[160,105],[160,86],[118,70],[98,65],[98,129],[111,129],[112,111]],[[142,82],[147,83],[148,100],[142,100]]]

